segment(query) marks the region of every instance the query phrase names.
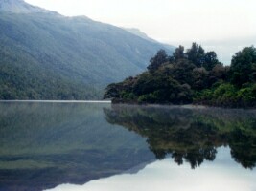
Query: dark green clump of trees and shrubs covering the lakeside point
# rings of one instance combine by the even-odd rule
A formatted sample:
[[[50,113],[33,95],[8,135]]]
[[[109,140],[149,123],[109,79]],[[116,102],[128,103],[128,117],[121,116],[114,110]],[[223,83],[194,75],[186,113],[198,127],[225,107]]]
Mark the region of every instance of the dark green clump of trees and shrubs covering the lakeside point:
[[[256,106],[256,49],[236,53],[223,66],[215,52],[193,43],[172,56],[160,50],[148,71],[107,86],[105,98],[113,102],[207,104],[226,107]]]

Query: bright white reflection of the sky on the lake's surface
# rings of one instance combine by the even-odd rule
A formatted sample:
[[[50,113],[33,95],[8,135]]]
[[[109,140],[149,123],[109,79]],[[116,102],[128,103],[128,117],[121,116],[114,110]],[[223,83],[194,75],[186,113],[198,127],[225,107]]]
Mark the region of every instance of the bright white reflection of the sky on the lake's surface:
[[[64,184],[55,191],[254,191],[256,172],[247,171],[230,158],[228,147],[218,149],[215,162],[204,162],[191,170],[188,163],[177,166],[171,159],[154,161],[135,175],[123,174],[84,185]]]

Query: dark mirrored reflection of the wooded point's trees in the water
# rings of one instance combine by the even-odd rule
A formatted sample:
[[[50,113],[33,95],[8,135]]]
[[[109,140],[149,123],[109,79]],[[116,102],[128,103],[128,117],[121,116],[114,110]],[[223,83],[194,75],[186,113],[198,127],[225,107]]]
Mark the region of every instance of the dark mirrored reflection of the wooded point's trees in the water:
[[[214,160],[217,148],[229,146],[244,168],[256,163],[256,112],[207,108],[113,105],[106,120],[147,138],[157,159],[171,156],[192,168]]]

